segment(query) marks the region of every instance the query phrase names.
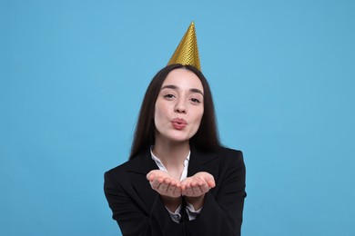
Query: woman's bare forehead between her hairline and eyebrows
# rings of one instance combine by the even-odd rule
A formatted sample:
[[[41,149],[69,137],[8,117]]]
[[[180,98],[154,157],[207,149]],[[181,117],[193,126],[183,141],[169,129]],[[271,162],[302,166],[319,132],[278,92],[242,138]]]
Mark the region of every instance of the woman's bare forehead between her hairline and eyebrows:
[[[165,79],[162,86],[168,84],[177,85],[178,87],[187,89],[196,88],[203,91],[203,86],[198,78],[198,75],[183,68],[175,69],[167,74],[167,78]]]

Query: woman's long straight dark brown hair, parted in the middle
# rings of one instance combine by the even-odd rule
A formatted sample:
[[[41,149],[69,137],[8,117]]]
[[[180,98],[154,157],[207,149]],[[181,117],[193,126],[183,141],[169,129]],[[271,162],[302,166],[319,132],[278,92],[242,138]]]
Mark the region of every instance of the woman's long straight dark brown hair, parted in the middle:
[[[135,158],[139,152],[146,150],[147,147],[155,143],[156,127],[154,123],[154,112],[157,95],[160,92],[162,84],[167,78],[167,74],[178,68],[185,68],[196,74],[201,81],[204,91],[204,113],[202,115],[198,132],[190,139],[190,144],[196,146],[201,151],[214,150],[220,146],[215,106],[208,81],[197,68],[191,65],[171,64],[161,69],[156,76],[154,76],[153,80],[147,87],[147,91],[140,108],[129,159]]]

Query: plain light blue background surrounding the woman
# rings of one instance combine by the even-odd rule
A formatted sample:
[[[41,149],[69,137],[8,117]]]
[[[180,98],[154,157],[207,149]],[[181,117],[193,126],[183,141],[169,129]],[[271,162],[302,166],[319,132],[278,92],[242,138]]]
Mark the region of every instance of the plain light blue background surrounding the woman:
[[[192,20],[243,235],[355,235],[354,3],[2,0],[0,235],[117,235],[103,173]]]

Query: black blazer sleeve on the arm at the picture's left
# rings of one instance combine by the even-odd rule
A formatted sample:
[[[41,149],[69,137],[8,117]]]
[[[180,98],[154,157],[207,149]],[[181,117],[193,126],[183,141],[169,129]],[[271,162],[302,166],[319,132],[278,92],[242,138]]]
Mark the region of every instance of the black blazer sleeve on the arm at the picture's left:
[[[156,194],[151,212],[143,211],[128,194],[125,182],[118,182],[111,172],[105,173],[104,190],[107,202],[124,236],[186,235],[184,224],[171,220],[160,197]],[[127,187],[127,186],[125,186]]]

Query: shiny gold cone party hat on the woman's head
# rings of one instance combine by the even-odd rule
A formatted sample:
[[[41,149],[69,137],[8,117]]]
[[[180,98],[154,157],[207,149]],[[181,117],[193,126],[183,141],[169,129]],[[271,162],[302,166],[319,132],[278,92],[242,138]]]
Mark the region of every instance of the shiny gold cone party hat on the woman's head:
[[[194,22],[191,22],[188,27],[188,31],[167,63],[167,65],[169,64],[189,64],[201,71],[198,57],[198,39],[196,37]]]

